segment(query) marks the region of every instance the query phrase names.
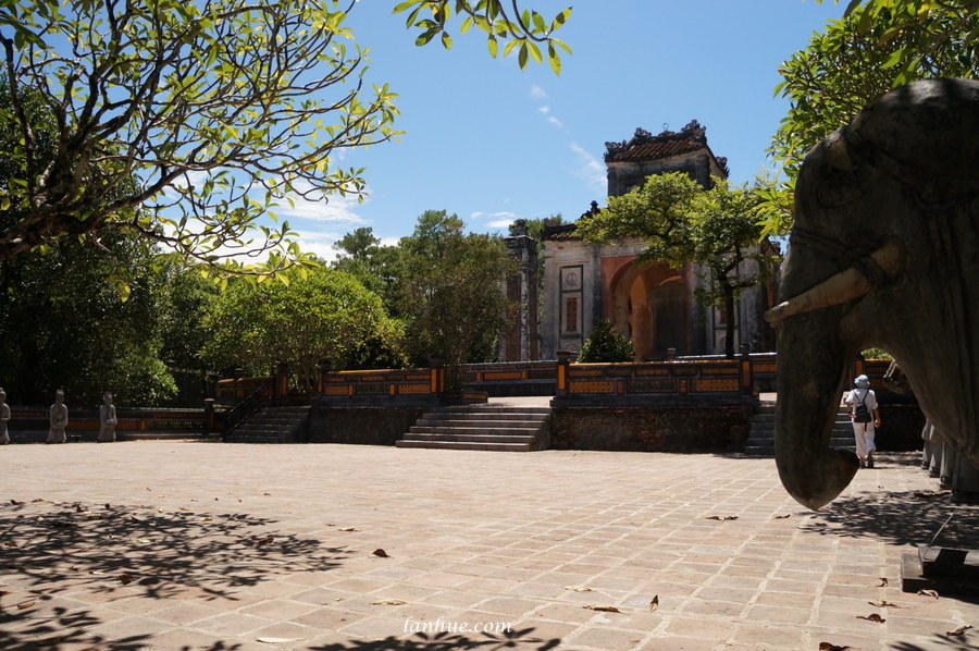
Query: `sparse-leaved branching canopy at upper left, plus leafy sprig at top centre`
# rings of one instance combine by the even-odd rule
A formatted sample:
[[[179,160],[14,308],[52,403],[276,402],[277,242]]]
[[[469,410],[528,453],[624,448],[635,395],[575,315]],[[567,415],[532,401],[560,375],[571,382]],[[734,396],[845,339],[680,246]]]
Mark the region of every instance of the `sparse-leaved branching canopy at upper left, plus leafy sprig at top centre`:
[[[449,46],[449,5],[402,2],[396,10],[411,10],[409,25],[424,30],[419,42],[435,25]],[[0,47],[16,137],[3,143],[0,158],[18,169],[0,188],[0,209],[22,209],[24,217],[0,230],[0,259],[120,228],[210,265],[271,251],[274,271],[301,258],[287,224],[260,225],[259,217],[289,196],[361,196],[362,170],[338,168],[331,155],[398,133],[395,93],[364,87],[365,50],[344,25],[355,7],[354,0],[4,3]],[[451,7],[491,39],[535,59],[534,44],[549,42],[568,14],[544,25],[516,4],[508,13],[501,0]],[[550,54],[557,60],[557,51]],[[32,93],[45,98],[57,127],[44,164],[25,99]]]

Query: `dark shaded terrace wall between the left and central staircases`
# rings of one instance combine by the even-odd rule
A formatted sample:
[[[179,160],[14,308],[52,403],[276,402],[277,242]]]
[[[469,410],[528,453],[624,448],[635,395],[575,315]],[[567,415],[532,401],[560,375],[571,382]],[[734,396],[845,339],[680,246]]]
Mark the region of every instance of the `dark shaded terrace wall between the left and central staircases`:
[[[302,432],[310,443],[394,445],[431,407],[313,405]]]

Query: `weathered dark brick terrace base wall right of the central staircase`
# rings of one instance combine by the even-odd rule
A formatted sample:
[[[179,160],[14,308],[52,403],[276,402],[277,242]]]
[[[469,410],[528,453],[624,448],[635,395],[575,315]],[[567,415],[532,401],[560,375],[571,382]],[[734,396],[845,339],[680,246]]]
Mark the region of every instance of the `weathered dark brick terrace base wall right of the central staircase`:
[[[743,452],[752,405],[555,406],[550,447],[641,452]]]

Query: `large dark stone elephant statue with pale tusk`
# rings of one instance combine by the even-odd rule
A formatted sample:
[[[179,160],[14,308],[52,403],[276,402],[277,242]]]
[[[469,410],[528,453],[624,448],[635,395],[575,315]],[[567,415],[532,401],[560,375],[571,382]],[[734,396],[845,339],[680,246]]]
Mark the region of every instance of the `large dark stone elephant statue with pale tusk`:
[[[869,347],[979,466],[979,82],[896,88],[809,152],[780,296],[776,460],[795,500],[819,508],[857,471],[829,439]]]

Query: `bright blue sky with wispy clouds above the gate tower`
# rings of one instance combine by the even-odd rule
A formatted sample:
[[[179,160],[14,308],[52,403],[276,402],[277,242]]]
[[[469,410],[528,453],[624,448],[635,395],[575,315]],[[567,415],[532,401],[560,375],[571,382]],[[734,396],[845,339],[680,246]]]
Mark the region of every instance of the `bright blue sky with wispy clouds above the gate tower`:
[[[554,15],[570,1],[522,0]],[[814,30],[839,17],[830,0],[579,0],[559,30],[574,53],[549,66],[490,58],[482,33],[453,34],[454,47],[414,46],[394,0],[360,0],[348,19],[371,48],[368,79],[400,95],[406,134],[347,153],[367,168],[363,204],[280,210],[300,244],[332,257],[332,243],[370,226],[386,243],[418,216],[445,209],[470,230],[506,232],[517,218],[581,214],[605,204],[605,143],[636,127],[707,127],[734,182],[770,167],[765,149],[786,103],[772,97],[778,67]]]

